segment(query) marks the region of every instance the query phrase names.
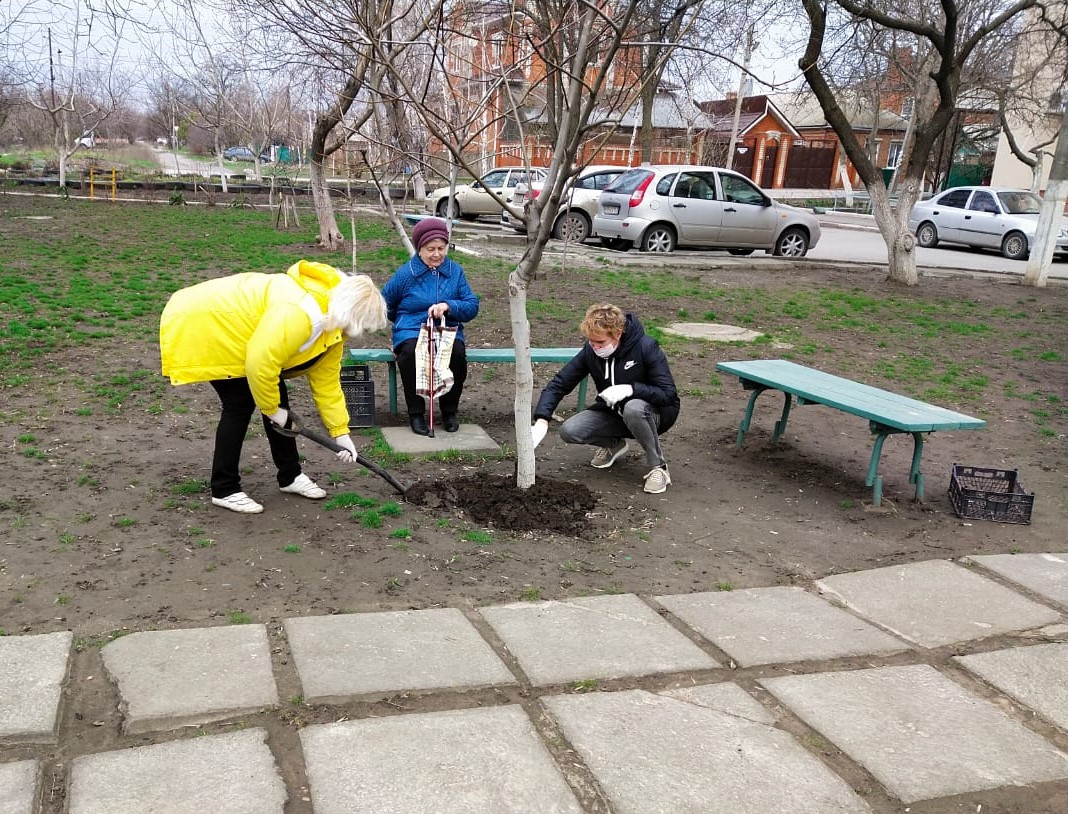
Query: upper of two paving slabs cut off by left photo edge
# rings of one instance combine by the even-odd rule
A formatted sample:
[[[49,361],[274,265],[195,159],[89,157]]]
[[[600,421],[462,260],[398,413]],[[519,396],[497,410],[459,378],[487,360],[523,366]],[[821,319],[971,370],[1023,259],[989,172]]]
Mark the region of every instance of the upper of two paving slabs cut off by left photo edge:
[[[56,740],[74,633],[0,636],[0,739]]]

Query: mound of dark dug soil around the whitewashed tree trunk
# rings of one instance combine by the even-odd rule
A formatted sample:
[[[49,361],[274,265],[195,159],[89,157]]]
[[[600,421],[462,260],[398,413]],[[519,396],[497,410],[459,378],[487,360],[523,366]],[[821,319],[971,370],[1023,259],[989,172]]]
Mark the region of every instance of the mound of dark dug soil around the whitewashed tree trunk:
[[[475,522],[508,531],[580,535],[597,497],[585,486],[539,478],[529,489],[502,475],[471,475],[414,484],[405,498],[426,508],[456,508]]]

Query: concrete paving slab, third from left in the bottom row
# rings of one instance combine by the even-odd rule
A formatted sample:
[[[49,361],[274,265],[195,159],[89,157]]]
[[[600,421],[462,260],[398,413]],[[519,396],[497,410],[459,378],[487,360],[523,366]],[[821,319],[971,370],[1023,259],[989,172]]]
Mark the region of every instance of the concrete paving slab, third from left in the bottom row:
[[[300,732],[315,814],[579,814],[518,706],[367,718]]]

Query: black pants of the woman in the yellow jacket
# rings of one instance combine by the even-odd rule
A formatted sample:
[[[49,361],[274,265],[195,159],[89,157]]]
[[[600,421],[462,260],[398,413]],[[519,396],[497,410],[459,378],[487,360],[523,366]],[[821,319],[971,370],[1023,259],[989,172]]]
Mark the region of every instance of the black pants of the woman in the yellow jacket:
[[[211,497],[225,498],[241,489],[241,444],[249,432],[249,421],[256,409],[249,389],[249,380],[215,379],[210,382],[222,402],[222,416],[215,431],[215,454],[211,458]],[[278,380],[278,394],[282,407],[289,409],[289,393],[285,381]],[[300,456],[297,439],[276,433],[270,428],[270,419],[263,417],[270,456],[278,467],[278,485],[288,486],[300,474]]]

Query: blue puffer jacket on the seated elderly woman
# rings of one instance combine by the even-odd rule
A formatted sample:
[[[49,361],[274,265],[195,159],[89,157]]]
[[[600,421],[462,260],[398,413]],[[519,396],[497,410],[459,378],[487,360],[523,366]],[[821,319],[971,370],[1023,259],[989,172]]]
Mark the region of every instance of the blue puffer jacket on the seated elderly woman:
[[[478,296],[468,285],[464,268],[450,257],[433,269],[415,255],[393,272],[382,287],[382,297],[393,323],[393,347],[419,338],[427,309],[437,302],[449,303],[445,325],[458,328],[456,339],[460,342],[466,342],[464,323],[478,315]]]

